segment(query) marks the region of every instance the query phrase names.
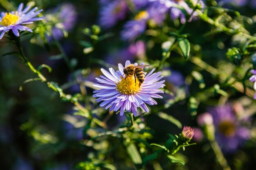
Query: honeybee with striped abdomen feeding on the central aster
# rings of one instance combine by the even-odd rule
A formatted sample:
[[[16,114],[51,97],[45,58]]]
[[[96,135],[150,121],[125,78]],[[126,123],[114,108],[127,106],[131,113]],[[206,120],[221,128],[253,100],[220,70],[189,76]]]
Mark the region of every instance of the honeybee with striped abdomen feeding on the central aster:
[[[128,65],[126,68],[124,68],[124,74],[126,75],[124,79],[126,79],[128,75],[130,76],[134,75],[135,84],[136,84],[136,79],[138,79],[139,86],[141,86],[141,84],[145,80],[145,73],[143,71],[143,68],[147,66],[149,65],[137,65],[137,66],[135,66],[134,64]]]

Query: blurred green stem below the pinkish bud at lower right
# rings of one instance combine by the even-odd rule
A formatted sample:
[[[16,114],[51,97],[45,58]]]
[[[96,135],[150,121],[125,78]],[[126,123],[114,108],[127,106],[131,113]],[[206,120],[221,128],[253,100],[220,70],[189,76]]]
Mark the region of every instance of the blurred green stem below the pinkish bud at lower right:
[[[231,170],[231,168],[229,167],[226,158],[224,157],[220,146],[218,144],[218,142],[216,140],[210,141],[211,147],[216,155],[216,158],[218,160],[218,162],[220,163],[220,165],[223,167],[223,170]]]

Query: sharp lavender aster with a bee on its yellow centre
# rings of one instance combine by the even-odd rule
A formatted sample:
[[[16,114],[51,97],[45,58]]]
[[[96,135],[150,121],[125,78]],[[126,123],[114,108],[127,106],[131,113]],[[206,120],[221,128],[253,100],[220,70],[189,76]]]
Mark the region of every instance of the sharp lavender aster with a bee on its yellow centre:
[[[130,65],[130,61],[126,61],[125,67]],[[135,63],[135,66],[138,64]],[[144,65],[144,63],[141,63]],[[124,111],[132,111],[134,115],[137,115],[137,107],[140,107],[144,112],[149,112],[146,104],[154,105],[157,102],[153,98],[162,98],[157,93],[164,93],[159,88],[163,88],[165,85],[162,79],[161,72],[153,73],[155,69],[146,74],[144,82],[141,84],[137,77],[133,75],[124,74],[124,66],[118,64],[118,71],[113,68],[109,68],[109,71],[101,68],[102,73],[105,76],[96,78],[99,84],[94,84],[95,87],[101,88],[94,91],[92,97],[97,97],[97,102],[102,102],[99,106],[106,108],[110,111],[120,110],[120,115],[124,114]],[[153,74],[152,74],[153,73]],[[137,79],[135,83],[135,78]]]

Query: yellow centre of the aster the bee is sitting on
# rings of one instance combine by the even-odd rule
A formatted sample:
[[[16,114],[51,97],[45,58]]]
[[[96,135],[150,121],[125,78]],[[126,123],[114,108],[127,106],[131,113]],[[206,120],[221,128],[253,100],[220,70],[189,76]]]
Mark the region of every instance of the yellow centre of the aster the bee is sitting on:
[[[136,78],[136,84],[135,84],[134,75],[127,75],[126,78],[121,77],[121,81],[116,84],[117,84],[117,90],[120,93],[123,93],[126,95],[133,95],[137,91],[140,91],[139,80]]]

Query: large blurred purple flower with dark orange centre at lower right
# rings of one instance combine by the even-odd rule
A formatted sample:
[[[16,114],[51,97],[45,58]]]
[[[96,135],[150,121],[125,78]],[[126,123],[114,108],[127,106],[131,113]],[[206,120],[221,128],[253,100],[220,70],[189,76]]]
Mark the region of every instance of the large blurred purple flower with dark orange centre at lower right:
[[[224,152],[234,152],[250,137],[249,129],[241,125],[231,106],[209,108],[216,129],[216,140]]]

